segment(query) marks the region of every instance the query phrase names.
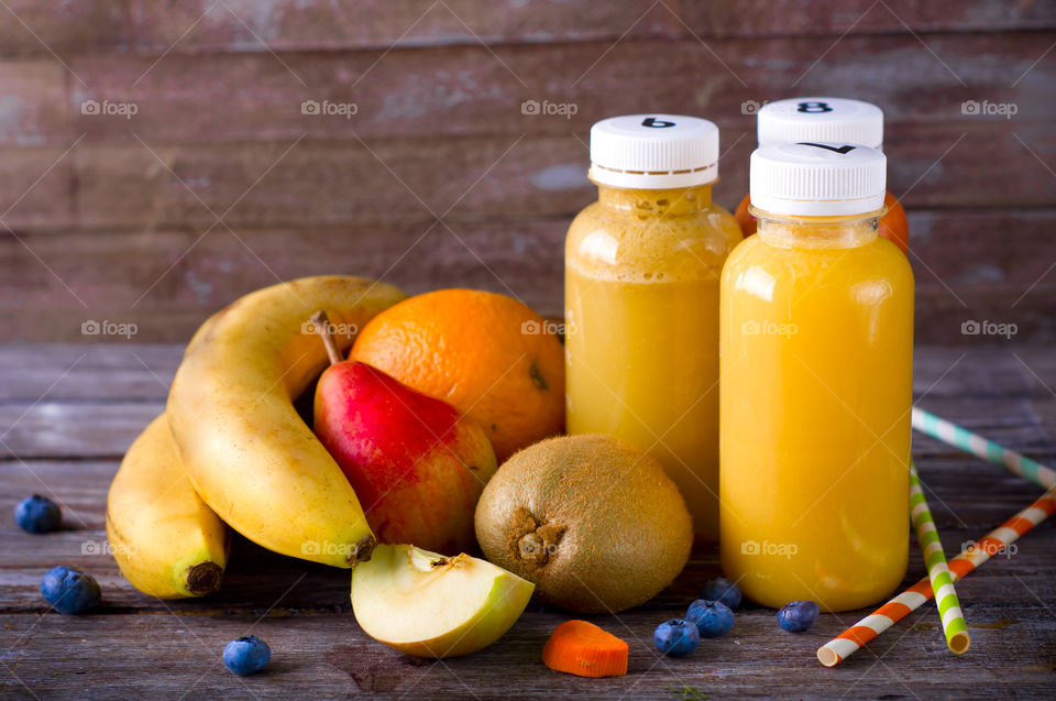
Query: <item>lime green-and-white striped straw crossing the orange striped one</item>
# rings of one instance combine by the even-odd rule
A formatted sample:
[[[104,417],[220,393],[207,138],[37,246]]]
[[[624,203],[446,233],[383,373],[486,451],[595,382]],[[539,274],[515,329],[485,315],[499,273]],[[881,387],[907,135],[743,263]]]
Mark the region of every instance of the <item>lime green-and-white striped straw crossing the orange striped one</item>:
[[[960,609],[960,601],[954,589],[954,579],[949,568],[946,567],[943,544],[938,539],[938,530],[935,528],[935,521],[924,499],[921,478],[912,460],[910,461],[910,518],[913,522],[913,529],[916,530],[921,552],[924,555],[932,591],[935,592],[938,615],[943,621],[943,632],[946,634],[946,646],[952,653],[961,655],[971,645],[968,624],[965,623],[965,613]]]

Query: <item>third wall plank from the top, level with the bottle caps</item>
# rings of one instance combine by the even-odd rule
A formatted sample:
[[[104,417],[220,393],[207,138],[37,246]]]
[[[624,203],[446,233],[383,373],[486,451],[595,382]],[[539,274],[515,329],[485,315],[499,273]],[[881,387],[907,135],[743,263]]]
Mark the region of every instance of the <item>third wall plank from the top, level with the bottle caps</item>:
[[[751,146],[747,132],[730,136],[715,193],[736,207],[747,190]],[[571,217],[596,197],[586,179],[585,138],[292,139],[150,149],[81,142],[67,155],[20,151],[8,157],[18,169],[0,176],[0,185],[10,178],[12,191],[28,193],[12,196],[3,221],[25,232],[208,226],[221,216],[232,227],[399,221],[449,210]],[[1050,206],[1056,177],[1024,144],[1038,157],[1056,158],[1056,141],[1041,124],[921,128],[889,149],[891,190],[904,195],[909,208]]]

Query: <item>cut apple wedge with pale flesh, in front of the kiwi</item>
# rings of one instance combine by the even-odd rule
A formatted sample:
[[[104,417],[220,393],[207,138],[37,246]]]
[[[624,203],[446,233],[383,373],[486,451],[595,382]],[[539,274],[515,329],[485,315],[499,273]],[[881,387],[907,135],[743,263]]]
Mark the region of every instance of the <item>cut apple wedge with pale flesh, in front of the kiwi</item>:
[[[352,610],[380,643],[418,657],[458,657],[502,637],[535,588],[464,552],[380,545],[352,572]]]

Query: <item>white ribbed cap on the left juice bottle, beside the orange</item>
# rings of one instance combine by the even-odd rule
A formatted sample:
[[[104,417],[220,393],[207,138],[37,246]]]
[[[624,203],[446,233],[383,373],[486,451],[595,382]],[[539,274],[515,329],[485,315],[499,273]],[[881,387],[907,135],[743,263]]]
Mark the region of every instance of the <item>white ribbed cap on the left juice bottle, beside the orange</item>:
[[[718,127],[678,114],[627,114],[591,127],[591,179],[642,189],[718,179]]]

